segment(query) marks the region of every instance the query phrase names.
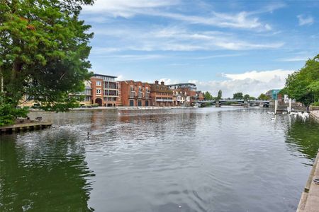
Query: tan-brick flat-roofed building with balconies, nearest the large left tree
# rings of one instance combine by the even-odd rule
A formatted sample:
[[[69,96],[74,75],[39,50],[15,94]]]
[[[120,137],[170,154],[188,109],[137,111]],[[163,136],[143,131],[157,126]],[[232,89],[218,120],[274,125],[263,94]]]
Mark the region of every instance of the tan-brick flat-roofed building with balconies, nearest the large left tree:
[[[116,76],[94,74],[91,77],[91,103],[99,106],[115,107],[118,104],[119,90]]]

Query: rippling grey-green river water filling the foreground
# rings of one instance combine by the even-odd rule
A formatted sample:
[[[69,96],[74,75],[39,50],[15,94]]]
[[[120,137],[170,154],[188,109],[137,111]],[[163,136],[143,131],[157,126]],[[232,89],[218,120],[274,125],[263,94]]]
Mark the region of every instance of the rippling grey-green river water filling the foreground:
[[[296,211],[319,148],[318,123],[264,109],[38,115],[0,136],[0,211]]]

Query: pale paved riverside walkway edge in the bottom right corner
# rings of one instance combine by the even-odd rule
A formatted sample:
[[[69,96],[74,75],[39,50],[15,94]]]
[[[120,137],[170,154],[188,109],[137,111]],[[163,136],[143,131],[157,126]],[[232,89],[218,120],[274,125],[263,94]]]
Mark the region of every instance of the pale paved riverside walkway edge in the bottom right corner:
[[[319,211],[319,184],[314,179],[319,179],[319,151],[313,163],[313,168],[308,177],[306,187],[301,194],[297,212],[318,212]]]

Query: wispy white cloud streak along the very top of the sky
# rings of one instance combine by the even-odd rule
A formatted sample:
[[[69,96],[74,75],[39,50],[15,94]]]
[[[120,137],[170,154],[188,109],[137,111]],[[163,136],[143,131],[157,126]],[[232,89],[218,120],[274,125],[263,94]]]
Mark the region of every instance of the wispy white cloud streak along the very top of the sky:
[[[181,4],[178,0],[97,0],[92,6],[84,6],[84,14],[90,14],[89,19],[96,22],[106,20],[105,17],[132,18],[137,15],[159,16],[180,20],[188,24],[213,25],[220,28],[240,28],[248,30],[272,30],[268,23],[261,23],[255,15],[269,13],[284,6],[274,4],[258,11],[240,11],[237,13],[218,13],[213,11],[206,16],[191,16],[182,13],[167,12],[168,8]],[[96,16],[96,17],[92,17]],[[101,18],[101,16],[104,17]]]

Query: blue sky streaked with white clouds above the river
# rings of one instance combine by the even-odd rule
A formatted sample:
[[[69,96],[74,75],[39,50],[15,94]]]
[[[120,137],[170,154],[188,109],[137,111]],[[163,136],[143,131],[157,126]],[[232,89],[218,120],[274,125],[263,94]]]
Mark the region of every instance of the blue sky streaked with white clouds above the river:
[[[318,11],[310,0],[96,0],[80,18],[94,33],[94,73],[228,98],[283,88],[319,54]]]

